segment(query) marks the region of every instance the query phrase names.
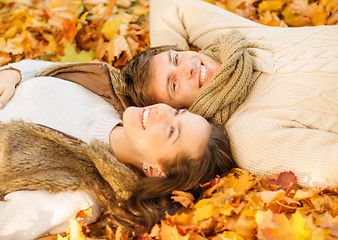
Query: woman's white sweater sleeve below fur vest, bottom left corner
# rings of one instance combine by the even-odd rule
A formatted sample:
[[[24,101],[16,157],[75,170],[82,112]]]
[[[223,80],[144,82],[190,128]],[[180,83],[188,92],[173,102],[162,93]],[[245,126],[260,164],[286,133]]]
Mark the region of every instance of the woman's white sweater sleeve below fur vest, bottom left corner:
[[[65,232],[80,210],[92,207],[87,223],[99,216],[99,205],[87,192],[18,191],[0,201],[0,238],[36,239],[47,233]]]

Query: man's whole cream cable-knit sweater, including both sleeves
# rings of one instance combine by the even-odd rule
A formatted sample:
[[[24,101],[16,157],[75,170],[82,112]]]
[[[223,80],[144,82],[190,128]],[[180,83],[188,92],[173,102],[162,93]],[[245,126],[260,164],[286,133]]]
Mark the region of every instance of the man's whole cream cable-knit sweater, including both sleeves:
[[[301,186],[338,185],[338,26],[268,27],[199,0],[151,0],[152,46],[201,49],[231,29],[262,72],[226,124],[237,164],[293,171]]]

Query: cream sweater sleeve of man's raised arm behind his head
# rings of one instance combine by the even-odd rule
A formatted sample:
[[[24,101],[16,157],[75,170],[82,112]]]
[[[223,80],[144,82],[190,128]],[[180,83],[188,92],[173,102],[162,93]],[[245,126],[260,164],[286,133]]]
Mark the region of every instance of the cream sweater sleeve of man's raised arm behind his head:
[[[150,1],[152,46],[175,44],[187,50],[188,44],[193,44],[202,49],[232,29],[248,36],[257,34],[258,29],[265,34],[266,28],[200,0]]]

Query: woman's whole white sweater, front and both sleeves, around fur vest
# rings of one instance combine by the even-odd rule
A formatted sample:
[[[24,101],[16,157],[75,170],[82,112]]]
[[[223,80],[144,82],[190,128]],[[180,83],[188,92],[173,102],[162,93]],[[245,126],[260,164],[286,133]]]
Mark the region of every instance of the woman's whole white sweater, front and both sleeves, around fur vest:
[[[10,64],[23,79],[12,99],[0,110],[0,121],[22,119],[72,135],[90,143],[109,143],[111,130],[121,122],[115,109],[84,87],[53,77],[33,76],[50,62],[25,60]],[[7,68],[5,66],[3,68]],[[1,68],[1,69],[3,69]],[[1,81],[1,79],[0,79]],[[0,202],[0,239],[35,239],[47,233],[65,232],[79,210],[94,208],[92,222],[99,216],[99,205],[83,191],[49,193],[18,191]]]

